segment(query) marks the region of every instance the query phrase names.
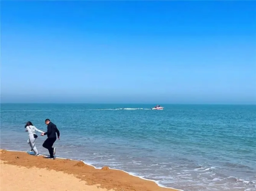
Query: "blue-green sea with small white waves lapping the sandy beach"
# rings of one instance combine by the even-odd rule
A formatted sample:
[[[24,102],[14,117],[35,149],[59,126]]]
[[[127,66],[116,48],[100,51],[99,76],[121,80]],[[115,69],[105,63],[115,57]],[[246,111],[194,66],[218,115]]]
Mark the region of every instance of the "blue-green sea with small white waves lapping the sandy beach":
[[[56,157],[183,191],[256,191],[256,105],[160,105],[1,104],[0,148],[29,151],[26,121],[47,131],[49,118]]]

